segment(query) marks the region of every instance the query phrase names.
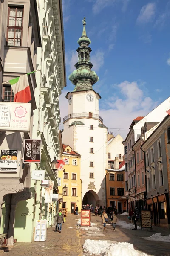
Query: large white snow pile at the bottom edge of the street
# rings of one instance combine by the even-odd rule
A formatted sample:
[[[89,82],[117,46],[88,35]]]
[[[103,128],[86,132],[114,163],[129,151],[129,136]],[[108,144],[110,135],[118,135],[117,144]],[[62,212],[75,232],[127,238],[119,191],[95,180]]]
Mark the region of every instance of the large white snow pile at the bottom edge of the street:
[[[147,256],[146,253],[134,249],[133,244],[108,243],[101,240],[86,239],[83,245],[84,253],[91,253],[96,256]]]

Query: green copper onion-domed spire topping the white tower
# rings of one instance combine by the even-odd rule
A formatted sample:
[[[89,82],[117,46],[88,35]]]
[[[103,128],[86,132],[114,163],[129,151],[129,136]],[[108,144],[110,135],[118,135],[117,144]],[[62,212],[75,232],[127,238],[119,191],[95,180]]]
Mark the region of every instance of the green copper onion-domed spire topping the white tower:
[[[68,77],[72,84],[75,85],[74,91],[93,90],[92,85],[99,81],[96,72],[91,70],[93,67],[93,64],[90,62],[91,48],[89,44],[91,44],[91,41],[86,34],[85,17],[82,20],[82,24],[82,36],[77,41],[79,48],[77,49],[78,62],[75,64],[76,70]]]

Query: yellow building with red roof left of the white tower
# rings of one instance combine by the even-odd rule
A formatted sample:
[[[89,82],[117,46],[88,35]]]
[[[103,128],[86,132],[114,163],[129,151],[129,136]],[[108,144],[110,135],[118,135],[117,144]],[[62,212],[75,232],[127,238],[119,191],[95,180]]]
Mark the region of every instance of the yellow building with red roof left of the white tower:
[[[58,173],[59,208],[67,208],[67,212],[74,213],[76,205],[79,212],[82,209],[82,180],[80,179],[81,155],[73,151],[69,145],[63,144],[62,159],[68,158],[64,166],[64,172]],[[66,192],[63,187],[66,186]]]

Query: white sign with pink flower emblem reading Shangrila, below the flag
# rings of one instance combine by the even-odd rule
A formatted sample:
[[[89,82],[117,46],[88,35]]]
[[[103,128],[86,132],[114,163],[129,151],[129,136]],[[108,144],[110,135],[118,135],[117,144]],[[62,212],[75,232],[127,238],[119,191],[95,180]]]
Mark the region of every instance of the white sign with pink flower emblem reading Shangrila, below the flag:
[[[31,103],[0,102],[0,131],[30,131]]]

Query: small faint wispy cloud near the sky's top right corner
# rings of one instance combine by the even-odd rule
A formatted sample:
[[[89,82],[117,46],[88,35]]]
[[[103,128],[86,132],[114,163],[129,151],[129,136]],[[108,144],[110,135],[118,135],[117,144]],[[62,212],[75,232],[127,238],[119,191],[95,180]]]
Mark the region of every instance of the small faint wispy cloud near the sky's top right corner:
[[[155,17],[155,12],[156,3],[148,3],[147,5],[142,6],[136,22],[138,24],[144,24],[153,21],[153,18]]]

